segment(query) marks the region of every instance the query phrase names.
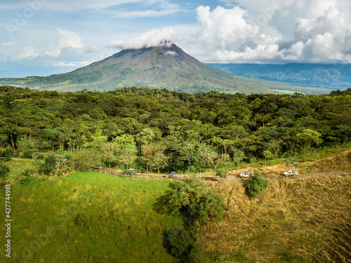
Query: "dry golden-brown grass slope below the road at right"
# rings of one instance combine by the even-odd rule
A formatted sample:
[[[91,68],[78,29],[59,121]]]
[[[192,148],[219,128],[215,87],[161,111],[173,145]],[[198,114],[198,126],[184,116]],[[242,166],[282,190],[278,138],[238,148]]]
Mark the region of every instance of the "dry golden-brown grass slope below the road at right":
[[[201,236],[213,262],[351,262],[351,175],[271,180],[257,198],[209,184],[229,205]]]

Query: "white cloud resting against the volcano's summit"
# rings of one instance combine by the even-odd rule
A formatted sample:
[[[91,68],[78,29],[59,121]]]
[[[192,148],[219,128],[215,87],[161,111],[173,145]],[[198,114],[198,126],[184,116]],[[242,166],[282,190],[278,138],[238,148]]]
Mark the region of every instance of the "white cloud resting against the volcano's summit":
[[[150,48],[152,46],[158,46],[161,42],[174,42],[176,38],[177,33],[172,28],[153,29],[139,34],[128,41],[112,41],[112,46],[123,49]]]

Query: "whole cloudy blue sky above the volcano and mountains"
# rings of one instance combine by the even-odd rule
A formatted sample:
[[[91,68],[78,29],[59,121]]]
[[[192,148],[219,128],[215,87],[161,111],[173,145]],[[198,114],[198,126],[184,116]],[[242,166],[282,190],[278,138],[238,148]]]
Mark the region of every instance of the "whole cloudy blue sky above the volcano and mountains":
[[[0,0],[0,77],[173,41],[202,62],[351,62],[349,0]]]

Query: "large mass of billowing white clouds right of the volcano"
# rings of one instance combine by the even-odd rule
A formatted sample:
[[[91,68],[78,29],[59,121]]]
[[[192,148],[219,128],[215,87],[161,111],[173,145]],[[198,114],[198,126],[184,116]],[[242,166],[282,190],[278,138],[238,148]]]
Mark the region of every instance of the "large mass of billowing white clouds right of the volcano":
[[[212,54],[204,56],[207,61],[351,62],[351,10],[347,1],[235,3],[242,5],[218,6],[212,11],[208,6],[197,8],[199,41]]]

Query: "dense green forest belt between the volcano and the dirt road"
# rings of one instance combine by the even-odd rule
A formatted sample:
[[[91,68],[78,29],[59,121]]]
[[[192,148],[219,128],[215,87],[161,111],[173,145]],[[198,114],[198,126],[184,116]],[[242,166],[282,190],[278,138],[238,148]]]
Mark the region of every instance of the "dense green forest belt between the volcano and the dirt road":
[[[125,168],[198,170],[277,159],[350,137],[351,88],[329,95],[231,95],[0,87],[0,155],[60,150]]]

